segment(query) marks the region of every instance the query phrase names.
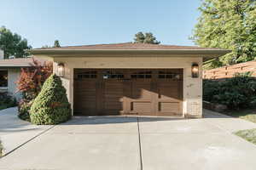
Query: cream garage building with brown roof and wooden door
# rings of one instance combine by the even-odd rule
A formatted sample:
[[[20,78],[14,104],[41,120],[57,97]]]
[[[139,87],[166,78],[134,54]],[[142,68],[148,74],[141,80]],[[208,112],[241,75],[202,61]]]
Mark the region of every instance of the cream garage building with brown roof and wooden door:
[[[54,61],[73,115],[183,117],[202,116],[203,60],[230,53],[132,42],[31,52]]]

